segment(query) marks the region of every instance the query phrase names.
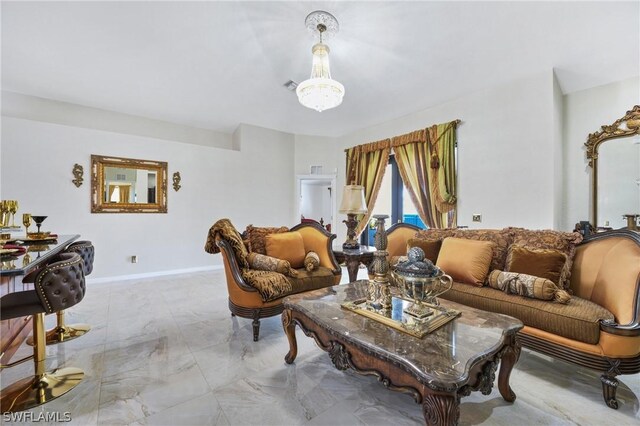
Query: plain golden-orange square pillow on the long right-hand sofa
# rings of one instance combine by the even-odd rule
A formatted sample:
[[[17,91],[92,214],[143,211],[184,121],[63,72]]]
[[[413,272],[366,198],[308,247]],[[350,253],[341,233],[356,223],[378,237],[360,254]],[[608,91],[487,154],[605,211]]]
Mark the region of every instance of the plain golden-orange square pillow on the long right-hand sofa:
[[[455,281],[484,285],[495,243],[448,237],[442,241],[436,266]]]

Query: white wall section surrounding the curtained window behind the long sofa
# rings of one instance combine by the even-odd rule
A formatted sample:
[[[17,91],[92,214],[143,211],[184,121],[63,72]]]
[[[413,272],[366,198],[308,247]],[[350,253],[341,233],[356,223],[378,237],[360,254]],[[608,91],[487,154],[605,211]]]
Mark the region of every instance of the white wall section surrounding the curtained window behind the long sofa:
[[[558,177],[552,158],[560,143],[554,137],[553,103],[549,71],[338,138],[338,188],[344,185],[343,149],[461,119],[458,224],[553,228]],[[482,223],[471,222],[474,213],[482,214]],[[344,240],[346,230],[337,228],[338,241]]]

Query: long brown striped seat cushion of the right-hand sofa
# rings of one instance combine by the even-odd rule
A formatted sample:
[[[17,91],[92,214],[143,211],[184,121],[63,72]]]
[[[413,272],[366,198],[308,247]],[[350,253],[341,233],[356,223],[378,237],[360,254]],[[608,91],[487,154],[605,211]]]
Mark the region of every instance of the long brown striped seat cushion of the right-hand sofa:
[[[572,297],[568,304],[563,305],[458,282],[454,282],[451,290],[440,297],[485,311],[510,315],[529,327],[593,345],[600,338],[600,320],[613,320],[611,312],[579,297]]]

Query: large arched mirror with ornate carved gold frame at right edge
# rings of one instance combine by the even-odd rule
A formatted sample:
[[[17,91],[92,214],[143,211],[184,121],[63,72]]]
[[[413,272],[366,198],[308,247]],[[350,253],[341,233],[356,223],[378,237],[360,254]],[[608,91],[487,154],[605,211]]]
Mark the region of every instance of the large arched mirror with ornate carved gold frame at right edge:
[[[632,228],[637,217],[629,216],[640,215],[640,105],[590,134],[585,146],[592,168],[591,223]]]

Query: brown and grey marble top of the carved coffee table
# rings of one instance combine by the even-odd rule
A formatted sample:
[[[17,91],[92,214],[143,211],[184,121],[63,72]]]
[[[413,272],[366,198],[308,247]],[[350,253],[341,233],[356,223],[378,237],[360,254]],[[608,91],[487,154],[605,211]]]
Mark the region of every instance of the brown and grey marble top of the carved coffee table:
[[[443,307],[461,311],[461,316],[416,338],[340,306],[366,297],[367,283],[356,281],[292,295],[285,299],[284,306],[302,312],[330,333],[377,357],[408,367],[421,381],[443,388],[464,384],[473,365],[493,356],[508,336],[523,327],[522,322],[507,315],[440,300]]]

